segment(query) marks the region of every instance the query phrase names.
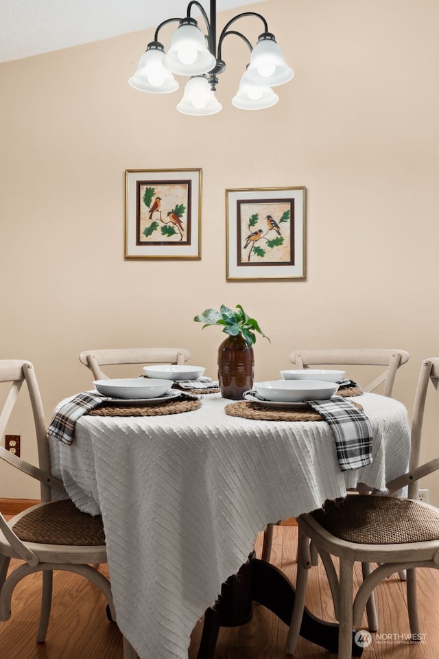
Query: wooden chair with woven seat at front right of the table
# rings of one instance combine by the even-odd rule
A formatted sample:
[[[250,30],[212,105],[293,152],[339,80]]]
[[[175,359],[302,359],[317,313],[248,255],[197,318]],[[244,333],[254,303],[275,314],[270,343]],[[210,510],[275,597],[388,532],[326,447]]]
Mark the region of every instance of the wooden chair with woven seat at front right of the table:
[[[417,498],[420,478],[439,469],[439,458],[418,466],[425,400],[431,382],[439,393],[439,358],[423,361],[416,386],[411,429],[410,467],[387,487],[399,494],[408,486],[408,498],[377,494],[346,496],[327,501],[321,509],[301,515],[296,595],[285,656],[294,654],[311,567],[310,540],[326,569],[335,616],[339,621],[339,659],[351,659],[352,629],[361,625],[366,603],[386,577],[407,570],[407,607],[412,638],[419,638],[416,568],[439,568],[439,509]],[[337,577],[333,557],[340,562]],[[353,595],[353,564],[377,564]]]

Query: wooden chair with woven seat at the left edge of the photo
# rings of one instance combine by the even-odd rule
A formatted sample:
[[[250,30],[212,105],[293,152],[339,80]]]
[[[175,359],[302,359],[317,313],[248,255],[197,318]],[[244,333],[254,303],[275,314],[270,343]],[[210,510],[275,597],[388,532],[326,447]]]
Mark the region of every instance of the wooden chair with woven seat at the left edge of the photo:
[[[116,620],[110,582],[91,564],[107,562],[102,517],[82,513],[67,497],[58,478],[51,476],[49,447],[43,404],[34,367],[26,360],[0,360],[0,391],[5,401],[0,414],[0,437],[19,399],[23,384],[27,389],[36,436],[38,466],[0,446],[0,458],[40,483],[41,502],[5,520],[0,513],[0,620],[9,620],[14,588],[27,575],[43,573],[40,624],[37,642],[43,643],[49,625],[54,570],[67,570],[92,581],[104,594],[107,614]],[[20,399],[25,398],[21,395]],[[21,404],[20,410],[25,409]],[[15,412],[17,407],[15,407]],[[24,447],[23,447],[24,448]],[[53,496],[58,493],[58,498]],[[59,498],[64,497],[64,498]],[[17,566],[11,559],[20,559]],[[9,573],[8,573],[9,570]]]

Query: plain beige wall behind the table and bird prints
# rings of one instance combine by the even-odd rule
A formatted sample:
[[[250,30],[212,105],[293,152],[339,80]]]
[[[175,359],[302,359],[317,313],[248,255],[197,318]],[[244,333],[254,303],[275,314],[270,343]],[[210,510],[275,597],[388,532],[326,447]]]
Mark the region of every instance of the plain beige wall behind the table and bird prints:
[[[411,359],[395,395],[411,409],[420,361],[439,354],[438,3],[254,10],[295,71],[265,111],[230,104],[248,61],[235,38],[211,117],[177,113],[180,91],[128,86],[152,30],[0,65],[0,358],[34,362],[48,420],[90,386],[82,349],[178,344],[215,377],[224,335],[193,316],[221,303],[244,305],[272,340],[255,347],[257,379],[298,347],[399,347]],[[201,261],[123,257],[125,170],[160,167],[202,168]],[[227,282],[225,189],[289,185],[307,187],[307,280]],[[10,432],[27,430],[17,419]],[[0,496],[35,494],[0,478]]]

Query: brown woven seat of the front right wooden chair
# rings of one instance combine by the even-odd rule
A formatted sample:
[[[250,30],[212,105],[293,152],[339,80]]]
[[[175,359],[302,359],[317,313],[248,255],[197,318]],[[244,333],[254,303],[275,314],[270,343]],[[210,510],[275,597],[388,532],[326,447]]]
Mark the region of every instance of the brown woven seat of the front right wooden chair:
[[[439,511],[394,496],[352,495],[310,513],[329,533],[360,544],[439,540]]]

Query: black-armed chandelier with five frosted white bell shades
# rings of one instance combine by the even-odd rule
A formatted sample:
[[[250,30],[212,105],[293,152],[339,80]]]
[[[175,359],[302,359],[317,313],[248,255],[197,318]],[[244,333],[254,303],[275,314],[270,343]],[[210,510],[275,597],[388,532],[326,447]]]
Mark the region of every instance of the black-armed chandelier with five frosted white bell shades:
[[[202,34],[197,21],[191,17],[191,9],[197,7],[206,24],[207,34]],[[259,35],[257,44],[252,44],[244,34],[230,30],[230,26],[244,16],[256,16],[263,22],[264,32]],[[167,53],[158,41],[158,32],[167,23],[179,25],[171,37]],[[129,82],[134,89],[156,94],[167,94],[179,87],[174,73],[189,76],[182,100],[177,110],[185,115],[213,115],[222,109],[215,97],[219,73],[226,70],[222,59],[222,43],[226,36],[239,36],[250,49],[250,62],[239,81],[239,89],[232,99],[236,108],[259,110],[270,108],[278,102],[272,87],[288,82],[294,76],[283,58],[274,34],[268,32],[268,23],[261,14],[244,12],[230,19],[216,37],[216,0],[211,0],[210,19],[202,5],[192,0],[187,5],[185,18],[172,18],[163,21],[156,28],[154,41],[147,45],[139,61],[137,71]]]

